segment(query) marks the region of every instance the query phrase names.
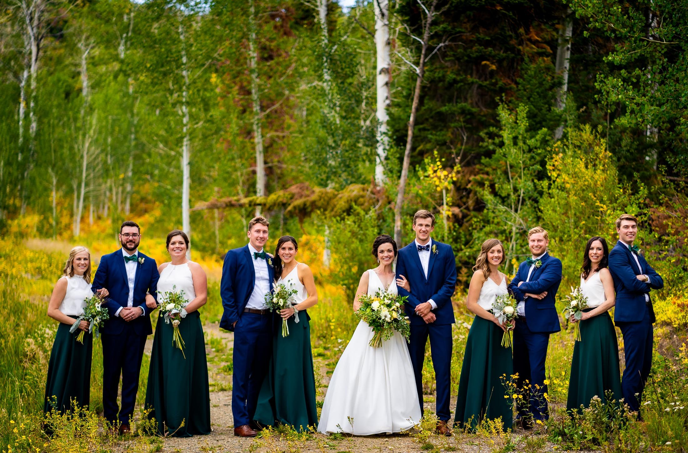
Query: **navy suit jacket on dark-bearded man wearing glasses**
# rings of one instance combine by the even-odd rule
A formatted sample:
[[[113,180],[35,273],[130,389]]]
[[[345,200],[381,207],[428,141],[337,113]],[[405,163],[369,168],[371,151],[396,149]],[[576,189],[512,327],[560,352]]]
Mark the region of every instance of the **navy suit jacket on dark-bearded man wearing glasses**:
[[[140,316],[133,321],[131,325],[134,326],[136,335],[151,335],[153,329],[151,328],[151,319],[149,315],[152,309],[146,306],[146,293],[151,293],[155,300],[158,300],[158,264],[151,257],[147,257],[140,251],[138,252],[139,260],[136,263],[136,278],[133,283],[133,306],[143,308],[145,315]],[[120,307],[127,306],[129,299],[129,280],[127,280],[127,268],[125,268],[125,259],[122,256],[122,249],[116,252],[103,255],[100,258],[100,264],[96,270],[96,275],[93,278],[91,286],[95,293],[100,288],[107,288],[110,295],[107,297],[105,307],[110,314],[110,319],[105,321],[103,330],[101,332],[109,335],[117,335],[125,328],[127,321],[121,317],[115,316],[116,311]]]

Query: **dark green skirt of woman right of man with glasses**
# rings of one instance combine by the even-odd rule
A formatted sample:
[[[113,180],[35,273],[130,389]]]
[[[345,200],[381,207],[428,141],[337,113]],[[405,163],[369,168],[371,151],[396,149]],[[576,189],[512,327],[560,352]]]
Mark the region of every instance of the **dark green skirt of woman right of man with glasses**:
[[[149,418],[155,418],[159,434],[191,437],[210,434],[211,403],[208,363],[201,317],[197,311],[181,319],[182,350],[172,344],[172,323],[158,319],[148,372],[146,403]],[[184,422],[184,426],[180,428]]]

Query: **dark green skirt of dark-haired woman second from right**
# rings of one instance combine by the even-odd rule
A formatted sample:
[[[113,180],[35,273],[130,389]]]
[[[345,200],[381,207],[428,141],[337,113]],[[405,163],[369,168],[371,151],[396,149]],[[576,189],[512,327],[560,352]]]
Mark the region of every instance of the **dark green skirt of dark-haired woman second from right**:
[[[580,329],[581,341],[573,346],[566,400],[566,410],[579,412],[581,404],[588,408],[594,396],[605,401],[605,390],[612,390],[616,401],[622,397],[619,344],[609,313],[582,321]]]

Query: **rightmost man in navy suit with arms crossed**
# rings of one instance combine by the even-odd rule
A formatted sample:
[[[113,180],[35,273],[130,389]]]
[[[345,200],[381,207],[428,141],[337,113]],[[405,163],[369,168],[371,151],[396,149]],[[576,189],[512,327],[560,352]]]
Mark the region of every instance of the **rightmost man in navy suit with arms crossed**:
[[[638,234],[638,220],[630,214],[622,214],[616,219],[616,233],[619,242],[609,253],[609,270],[616,290],[614,323],[623,334],[626,361],[621,391],[625,403],[640,417],[640,401],[652,366],[655,318],[649,292],[663,288],[664,281],[633,244]]]

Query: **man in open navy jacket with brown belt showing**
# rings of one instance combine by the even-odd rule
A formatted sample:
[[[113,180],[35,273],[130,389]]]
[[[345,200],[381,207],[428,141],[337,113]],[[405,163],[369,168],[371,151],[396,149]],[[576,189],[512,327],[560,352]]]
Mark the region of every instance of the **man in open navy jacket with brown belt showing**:
[[[234,435],[241,437],[258,434],[252,418],[272,354],[273,317],[265,295],[272,291],[274,275],[272,257],[263,249],[269,226],[264,217],[251,219],[248,245],[228,251],[222,265],[219,326],[234,332],[232,414]]]

